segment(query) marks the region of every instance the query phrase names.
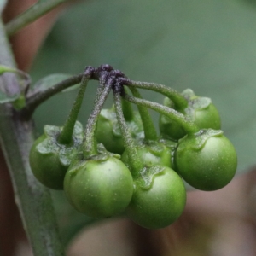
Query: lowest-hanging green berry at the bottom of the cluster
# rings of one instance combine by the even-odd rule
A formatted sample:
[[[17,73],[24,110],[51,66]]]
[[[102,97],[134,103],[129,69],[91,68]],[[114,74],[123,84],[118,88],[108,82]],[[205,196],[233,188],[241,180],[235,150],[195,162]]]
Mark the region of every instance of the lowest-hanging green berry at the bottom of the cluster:
[[[165,228],[177,220],[185,204],[186,190],[178,174],[166,166],[150,166],[135,179],[127,216],[147,229]]]

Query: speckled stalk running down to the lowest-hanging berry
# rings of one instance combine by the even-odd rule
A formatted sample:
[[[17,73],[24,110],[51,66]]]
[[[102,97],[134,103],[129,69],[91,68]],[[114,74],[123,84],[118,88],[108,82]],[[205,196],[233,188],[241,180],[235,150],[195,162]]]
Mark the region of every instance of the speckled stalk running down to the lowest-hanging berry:
[[[113,97],[114,97],[114,108],[116,111],[119,127],[124,140],[125,150],[127,150],[129,162],[131,164],[131,175],[133,177],[136,177],[137,173],[143,168],[143,163],[139,160],[134,140],[132,139],[131,133],[125,122],[125,117],[122,111],[120,92],[113,90]]]

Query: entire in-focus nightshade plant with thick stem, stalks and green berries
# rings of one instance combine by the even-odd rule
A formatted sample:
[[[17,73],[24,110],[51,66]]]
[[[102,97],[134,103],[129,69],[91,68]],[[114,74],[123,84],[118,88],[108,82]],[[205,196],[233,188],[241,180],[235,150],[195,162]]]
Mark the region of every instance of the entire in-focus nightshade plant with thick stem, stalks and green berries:
[[[133,81],[109,65],[86,67],[84,73],[64,80],[45,78],[31,88],[29,75],[15,68],[7,33],[14,34],[62,2],[38,1],[5,29],[0,26],[1,148],[36,256],[63,255],[47,187],[64,189],[67,201],[87,216],[122,214],[145,228],[159,229],[183,212],[183,180],[196,189],[221,189],[230,183],[237,166],[235,148],[219,130],[218,110],[210,99],[195,96],[191,90],[178,93],[162,84]],[[0,11],[4,3],[0,2]],[[83,130],[77,118],[90,80],[98,80],[99,86]],[[34,141],[34,110],[79,83],[63,127],[45,125],[44,134]],[[167,100],[164,105],[144,100],[137,89],[161,93]],[[114,107],[109,115],[115,127],[109,131],[115,129],[118,136],[109,141],[101,133],[106,124],[100,114],[111,90]],[[137,105],[139,114],[131,103]],[[148,108],[160,113],[160,135]],[[113,145],[120,146],[113,149]]]

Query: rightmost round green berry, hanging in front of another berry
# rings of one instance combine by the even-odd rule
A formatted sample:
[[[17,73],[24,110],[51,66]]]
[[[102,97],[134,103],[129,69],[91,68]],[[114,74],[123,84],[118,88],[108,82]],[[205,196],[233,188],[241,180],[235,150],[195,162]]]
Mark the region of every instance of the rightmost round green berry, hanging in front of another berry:
[[[195,189],[221,189],[234,177],[236,150],[222,131],[201,130],[179,140],[174,154],[177,172]]]

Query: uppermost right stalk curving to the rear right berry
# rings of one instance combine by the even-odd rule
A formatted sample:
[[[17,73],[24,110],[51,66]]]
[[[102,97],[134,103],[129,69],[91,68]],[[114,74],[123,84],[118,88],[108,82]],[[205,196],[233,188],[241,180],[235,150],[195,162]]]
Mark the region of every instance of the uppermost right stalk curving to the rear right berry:
[[[177,109],[184,109],[188,107],[187,100],[177,92],[177,90],[173,90],[172,88],[163,85],[163,84],[154,84],[154,83],[146,83],[146,82],[138,82],[128,80],[129,86],[134,86],[137,88],[142,88],[146,90],[154,90],[159,92],[160,94],[167,96],[174,104]]]

